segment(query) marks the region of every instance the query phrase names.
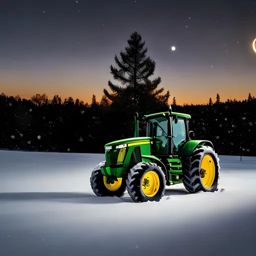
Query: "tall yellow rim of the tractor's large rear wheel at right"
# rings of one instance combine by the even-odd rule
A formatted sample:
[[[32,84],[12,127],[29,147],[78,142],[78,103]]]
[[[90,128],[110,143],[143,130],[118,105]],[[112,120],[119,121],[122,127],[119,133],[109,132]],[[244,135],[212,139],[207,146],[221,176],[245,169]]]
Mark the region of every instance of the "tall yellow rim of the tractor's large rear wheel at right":
[[[206,188],[212,186],[215,177],[215,164],[209,154],[205,154],[201,161],[200,177]]]

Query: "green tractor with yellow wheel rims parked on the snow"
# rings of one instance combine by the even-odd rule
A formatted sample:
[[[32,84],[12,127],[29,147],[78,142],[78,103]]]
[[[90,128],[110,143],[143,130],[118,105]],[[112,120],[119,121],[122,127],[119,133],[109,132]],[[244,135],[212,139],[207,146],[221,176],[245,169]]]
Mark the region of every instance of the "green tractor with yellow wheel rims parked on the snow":
[[[146,137],[138,136],[135,113],[133,138],[105,145],[105,161],[92,171],[90,185],[97,196],[121,197],[127,189],[135,202],[159,201],[165,186],[183,183],[190,193],[218,190],[219,158],[208,140],[191,140],[189,114],[145,115]]]

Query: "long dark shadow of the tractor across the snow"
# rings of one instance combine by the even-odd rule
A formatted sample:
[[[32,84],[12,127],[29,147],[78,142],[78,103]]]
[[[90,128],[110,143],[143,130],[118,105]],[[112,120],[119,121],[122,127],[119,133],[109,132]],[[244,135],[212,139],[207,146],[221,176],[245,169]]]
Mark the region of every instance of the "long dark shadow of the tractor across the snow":
[[[166,189],[162,199],[169,199],[171,195],[189,194],[184,188]],[[0,193],[1,201],[47,201],[81,204],[112,204],[121,202],[135,203],[126,192],[123,197],[98,197],[93,192],[5,192]]]

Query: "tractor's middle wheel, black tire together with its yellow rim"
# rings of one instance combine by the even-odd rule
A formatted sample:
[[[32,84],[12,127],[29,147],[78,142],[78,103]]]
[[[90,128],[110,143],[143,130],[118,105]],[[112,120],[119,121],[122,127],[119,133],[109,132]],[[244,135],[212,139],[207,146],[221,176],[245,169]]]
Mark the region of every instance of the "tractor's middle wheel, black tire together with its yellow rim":
[[[152,162],[139,162],[128,172],[128,194],[134,202],[159,201],[164,196],[165,176]]]

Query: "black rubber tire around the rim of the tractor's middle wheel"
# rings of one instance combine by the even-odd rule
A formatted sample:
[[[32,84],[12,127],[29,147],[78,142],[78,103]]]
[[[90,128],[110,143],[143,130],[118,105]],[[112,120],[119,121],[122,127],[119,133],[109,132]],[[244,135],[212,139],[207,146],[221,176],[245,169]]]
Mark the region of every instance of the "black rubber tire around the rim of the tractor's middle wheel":
[[[148,171],[154,171],[159,178],[159,188],[153,196],[143,192],[142,178]],[[128,194],[134,202],[159,201],[164,196],[165,176],[161,168],[152,162],[139,162],[128,172],[126,187]],[[156,191],[156,190],[155,190]]]

